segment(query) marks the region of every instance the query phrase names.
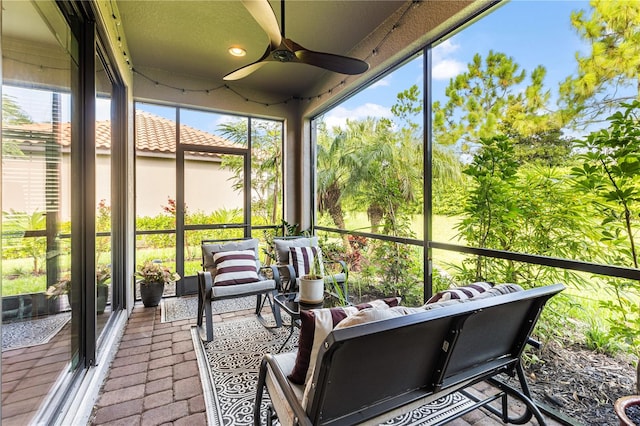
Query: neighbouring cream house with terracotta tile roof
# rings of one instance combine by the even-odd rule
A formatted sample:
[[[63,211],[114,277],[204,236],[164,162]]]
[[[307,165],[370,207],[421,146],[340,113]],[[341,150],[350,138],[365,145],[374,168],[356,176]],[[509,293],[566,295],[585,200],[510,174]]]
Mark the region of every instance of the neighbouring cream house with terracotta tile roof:
[[[138,216],[155,216],[162,212],[167,199],[176,194],[176,123],[145,111],[136,112],[136,188]],[[56,186],[43,191],[39,182],[47,174],[59,173],[60,187],[69,185],[70,123],[60,123],[58,129],[50,123],[29,123],[6,126],[3,136],[12,141],[22,154],[5,156],[4,179],[11,182],[3,191],[3,204],[15,211],[33,213],[46,211],[47,194],[70,194]],[[187,125],[180,126],[184,145],[209,148],[234,148],[238,145],[217,135]],[[96,122],[96,200],[110,194],[111,123]],[[55,152],[55,154],[51,154]],[[185,151],[185,200],[190,212],[211,213],[218,209],[242,207],[242,193],[232,188],[235,174],[225,170],[223,155]],[[56,160],[58,158],[58,160]],[[37,184],[36,184],[37,183]],[[215,190],[214,190],[215,188]],[[25,196],[24,194],[28,194]],[[57,200],[60,219],[70,217],[68,200]],[[57,211],[57,209],[56,209]]]

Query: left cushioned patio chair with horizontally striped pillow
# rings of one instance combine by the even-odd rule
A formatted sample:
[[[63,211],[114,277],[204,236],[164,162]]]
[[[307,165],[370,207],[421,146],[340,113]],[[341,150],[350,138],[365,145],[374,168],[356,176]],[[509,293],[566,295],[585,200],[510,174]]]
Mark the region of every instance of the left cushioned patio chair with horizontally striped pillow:
[[[202,268],[198,271],[198,330],[207,342],[213,340],[214,300],[256,296],[256,315],[265,327],[271,328],[261,315],[269,304],[275,327],[282,326],[280,310],[273,304],[278,292],[279,272],[275,266],[262,267],[258,258],[258,240],[203,240]],[[202,330],[202,322],[206,330]]]

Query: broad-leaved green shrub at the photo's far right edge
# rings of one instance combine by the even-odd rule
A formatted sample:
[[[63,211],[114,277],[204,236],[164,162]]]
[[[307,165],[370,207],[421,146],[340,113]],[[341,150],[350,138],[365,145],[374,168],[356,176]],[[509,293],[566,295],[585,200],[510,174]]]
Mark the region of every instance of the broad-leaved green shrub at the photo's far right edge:
[[[573,173],[577,188],[594,197],[601,219],[596,232],[604,247],[601,259],[638,268],[635,229],[640,212],[640,102],[621,107],[622,111],[608,118],[608,129],[592,132],[579,142],[583,164]],[[615,302],[601,302],[611,314],[609,337],[640,355],[640,285],[621,279],[610,279],[607,284],[615,295]]]

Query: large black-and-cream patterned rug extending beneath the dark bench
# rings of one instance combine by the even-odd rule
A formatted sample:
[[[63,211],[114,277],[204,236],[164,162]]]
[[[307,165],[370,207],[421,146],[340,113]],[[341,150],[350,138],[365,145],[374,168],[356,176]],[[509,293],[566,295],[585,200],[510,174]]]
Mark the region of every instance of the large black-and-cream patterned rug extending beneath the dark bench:
[[[288,319],[284,318],[285,322]],[[204,384],[205,389],[210,386],[213,395],[207,404],[209,423],[234,426],[253,424],[253,402],[262,355],[277,352],[288,333],[287,327],[268,330],[255,318],[214,324],[213,342],[203,343],[203,356],[206,356],[208,377],[212,381]],[[295,350],[297,341],[298,333],[294,333],[283,351]],[[263,413],[269,401],[268,393],[265,392],[264,396]],[[454,393],[384,424],[430,425],[470,405],[472,401]]]

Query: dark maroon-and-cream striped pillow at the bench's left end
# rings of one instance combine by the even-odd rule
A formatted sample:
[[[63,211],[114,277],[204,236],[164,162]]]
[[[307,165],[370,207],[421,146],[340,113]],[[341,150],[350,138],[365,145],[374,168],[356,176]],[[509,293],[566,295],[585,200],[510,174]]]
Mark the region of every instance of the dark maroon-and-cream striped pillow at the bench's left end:
[[[357,306],[345,306],[341,308],[322,308],[300,310],[300,338],[298,340],[298,353],[296,364],[287,376],[289,380],[302,385],[313,376],[314,363],[318,357],[320,345],[327,338],[331,330],[343,319],[366,308],[389,308],[398,306],[399,297],[373,300]]]

